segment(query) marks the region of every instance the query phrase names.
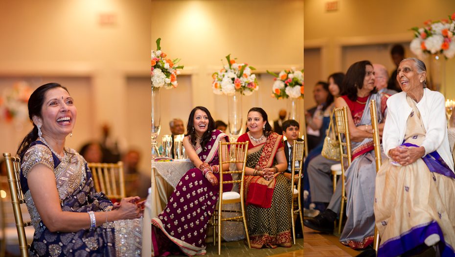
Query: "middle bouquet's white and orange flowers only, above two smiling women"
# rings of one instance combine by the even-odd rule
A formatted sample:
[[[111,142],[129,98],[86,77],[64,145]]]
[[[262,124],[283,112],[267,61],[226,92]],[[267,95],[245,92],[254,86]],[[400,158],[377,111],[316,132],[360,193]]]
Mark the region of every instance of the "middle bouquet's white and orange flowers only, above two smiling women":
[[[243,95],[250,95],[259,89],[256,75],[251,74],[255,70],[248,64],[238,64],[230,59],[230,54],[226,56],[228,64],[212,74],[212,88],[215,94],[233,95],[240,92]]]

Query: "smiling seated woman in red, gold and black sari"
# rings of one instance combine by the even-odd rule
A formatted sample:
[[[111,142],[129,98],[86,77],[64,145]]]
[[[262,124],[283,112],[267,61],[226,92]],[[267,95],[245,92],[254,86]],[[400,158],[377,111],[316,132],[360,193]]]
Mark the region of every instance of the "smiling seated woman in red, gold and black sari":
[[[245,198],[251,247],[291,246],[291,182],[283,175],[288,165],[283,136],[272,132],[267,113],[248,112],[247,132],[237,142],[249,142],[245,168]]]

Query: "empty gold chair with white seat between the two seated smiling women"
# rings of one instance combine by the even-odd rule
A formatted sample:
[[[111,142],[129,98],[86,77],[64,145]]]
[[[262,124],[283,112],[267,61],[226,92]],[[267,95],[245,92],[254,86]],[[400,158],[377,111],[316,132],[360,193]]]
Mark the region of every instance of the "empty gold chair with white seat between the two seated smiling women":
[[[229,149],[229,150],[224,150]],[[216,245],[218,241],[218,255],[221,255],[221,225],[223,221],[243,221],[245,226],[245,237],[247,238],[248,248],[251,248],[250,245],[250,235],[248,234],[247,219],[245,213],[245,204],[244,204],[244,177],[245,177],[245,167],[247,163],[247,151],[248,151],[248,142],[239,142],[239,143],[224,143],[220,142],[218,149],[218,156],[220,158],[220,192],[218,196],[218,202],[215,208],[215,213],[212,216],[213,223],[213,245]],[[224,171],[223,164],[242,164],[242,169],[240,171]],[[236,166],[237,167],[237,166]],[[240,177],[229,181],[223,181],[223,174],[238,174]],[[231,191],[223,193],[224,184],[235,184],[239,185],[239,193]],[[224,204],[230,203],[240,203],[240,211],[229,211],[223,210]],[[227,213],[239,213],[240,215],[229,218],[221,218],[223,212]],[[216,237],[216,228],[218,228],[218,238]],[[217,240],[218,239],[218,240]]]

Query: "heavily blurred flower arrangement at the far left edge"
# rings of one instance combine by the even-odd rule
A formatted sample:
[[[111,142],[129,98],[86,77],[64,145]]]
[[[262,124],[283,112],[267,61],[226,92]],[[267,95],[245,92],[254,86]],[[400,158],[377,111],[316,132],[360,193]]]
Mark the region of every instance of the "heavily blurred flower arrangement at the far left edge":
[[[27,120],[27,103],[32,91],[25,81],[16,82],[12,87],[5,88],[0,98],[0,116],[7,122]]]

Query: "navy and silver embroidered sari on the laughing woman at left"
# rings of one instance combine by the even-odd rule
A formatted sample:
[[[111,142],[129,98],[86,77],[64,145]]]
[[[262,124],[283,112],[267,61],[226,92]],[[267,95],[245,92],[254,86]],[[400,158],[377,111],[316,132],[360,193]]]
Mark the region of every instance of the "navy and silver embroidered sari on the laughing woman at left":
[[[84,158],[65,149],[63,161],[41,141],[33,142],[22,158],[21,186],[35,227],[30,256],[140,256],[142,219],[107,222],[93,230],[73,233],[50,232],[41,220],[27,184],[27,175],[36,164],[54,171],[62,211],[108,212],[112,202],[104,193],[95,193],[91,171]],[[89,215],[87,215],[87,219]]]

